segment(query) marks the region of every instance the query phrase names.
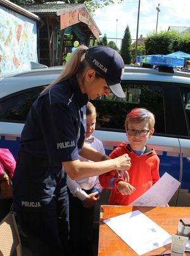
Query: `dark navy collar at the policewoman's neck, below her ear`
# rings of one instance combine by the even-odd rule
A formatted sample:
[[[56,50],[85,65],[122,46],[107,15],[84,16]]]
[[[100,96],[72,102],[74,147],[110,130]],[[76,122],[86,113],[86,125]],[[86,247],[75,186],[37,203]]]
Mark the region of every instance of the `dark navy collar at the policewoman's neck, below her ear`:
[[[77,101],[79,107],[82,108],[82,106],[86,105],[89,101],[89,96],[86,93],[82,93],[80,91],[80,87],[75,75],[73,75],[73,77],[70,77],[68,81],[70,83],[70,87],[74,94],[75,100]]]

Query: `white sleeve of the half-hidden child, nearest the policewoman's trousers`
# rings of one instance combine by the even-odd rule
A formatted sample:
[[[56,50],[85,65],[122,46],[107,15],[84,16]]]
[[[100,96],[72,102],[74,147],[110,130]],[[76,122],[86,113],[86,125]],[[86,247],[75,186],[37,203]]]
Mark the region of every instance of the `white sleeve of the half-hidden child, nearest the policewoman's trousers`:
[[[68,175],[66,176],[67,186],[70,189],[70,193],[74,197],[79,198],[81,201],[84,201],[87,198],[87,193],[80,187],[77,181],[73,181]]]

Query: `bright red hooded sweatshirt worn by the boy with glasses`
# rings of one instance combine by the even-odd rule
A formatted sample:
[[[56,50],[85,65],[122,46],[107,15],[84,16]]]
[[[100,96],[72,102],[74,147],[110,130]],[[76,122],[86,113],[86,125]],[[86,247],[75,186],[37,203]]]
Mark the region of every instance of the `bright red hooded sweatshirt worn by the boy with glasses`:
[[[99,182],[104,188],[111,189],[109,198],[110,205],[130,205],[134,200],[143,195],[156,181],[159,176],[160,159],[155,150],[146,146],[143,155],[136,155],[127,143],[122,143],[110,153],[110,158],[116,158],[127,153],[132,163],[129,172],[129,183],[136,188],[131,195],[122,195],[116,188],[118,181],[124,181],[124,172],[117,177],[115,172],[110,171],[99,176]]]

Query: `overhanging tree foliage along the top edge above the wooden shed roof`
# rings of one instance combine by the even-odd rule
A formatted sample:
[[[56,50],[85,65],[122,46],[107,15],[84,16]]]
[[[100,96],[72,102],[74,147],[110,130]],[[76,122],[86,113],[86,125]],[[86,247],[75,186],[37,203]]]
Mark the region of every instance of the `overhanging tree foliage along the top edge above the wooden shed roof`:
[[[122,3],[124,0],[117,0],[117,3]],[[57,3],[55,0],[11,0],[12,3],[22,4],[44,4],[44,3]],[[109,4],[115,3],[114,0],[60,0],[63,4],[85,4],[89,12],[93,15],[94,11],[98,8],[103,8]]]

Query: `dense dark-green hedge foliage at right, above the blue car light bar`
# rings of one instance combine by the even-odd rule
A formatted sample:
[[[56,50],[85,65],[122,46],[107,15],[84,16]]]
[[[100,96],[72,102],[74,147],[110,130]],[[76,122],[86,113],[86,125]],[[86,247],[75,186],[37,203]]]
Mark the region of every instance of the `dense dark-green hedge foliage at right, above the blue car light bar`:
[[[190,53],[190,34],[176,31],[161,31],[149,34],[145,42],[146,54],[168,54],[175,51]]]

